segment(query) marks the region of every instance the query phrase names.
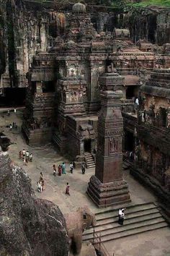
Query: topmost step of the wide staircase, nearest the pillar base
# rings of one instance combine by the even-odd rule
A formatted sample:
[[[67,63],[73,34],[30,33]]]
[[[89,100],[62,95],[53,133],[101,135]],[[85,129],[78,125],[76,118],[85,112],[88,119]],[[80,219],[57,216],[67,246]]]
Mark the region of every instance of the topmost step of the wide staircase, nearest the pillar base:
[[[156,205],[153,203],[153,202],[148,202],[146,204],[140,204],[140,205],[134,205],[134,206],[131,206],[130,208],[126,208],[125,209],[125,216],[127,216],[128,213],[137,213],[137,212],[140,212],[140,211],[144,211],[144,210],[148,210],[148,209],[154,209],[156,208]],[[97,218],[97,221],[99,220],[102,220],[102,219],[106,219],[106,218],[112,218],[114,216],[117,216],[118,215],[118,210],[106,210],[106,211],[102,211],[102,212],[98,212],[96,213],[96,218]]]

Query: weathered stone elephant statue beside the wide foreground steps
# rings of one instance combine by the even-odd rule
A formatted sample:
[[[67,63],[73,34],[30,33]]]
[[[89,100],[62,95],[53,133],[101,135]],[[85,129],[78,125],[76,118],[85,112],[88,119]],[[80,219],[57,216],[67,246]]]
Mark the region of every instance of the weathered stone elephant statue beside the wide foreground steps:
[[[68,213],[64,217],[66,219],[70,247],[79,254],[84,229],[89,228],[89,226],[95,226],[96,218],[87,207],[79,208],[76,212]]]

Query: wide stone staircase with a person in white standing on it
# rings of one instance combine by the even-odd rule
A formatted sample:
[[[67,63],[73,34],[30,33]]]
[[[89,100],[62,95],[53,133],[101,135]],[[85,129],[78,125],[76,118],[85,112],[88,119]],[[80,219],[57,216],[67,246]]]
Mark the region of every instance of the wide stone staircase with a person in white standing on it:
[[[86,229],[83,240],[93,242],[93,232],[101,237],[101,242],[119,239],[125,236],[140,234],[155,229],[163,229],[168,226],[160,211],[153,202],[141,205],[134,205],[126,208],[125,221],[123,226],[117,223],[118,209],[105,210],[96,213],[97,226],[93,229]],[[99,239],[94,239],[94,244],[99,243]]]

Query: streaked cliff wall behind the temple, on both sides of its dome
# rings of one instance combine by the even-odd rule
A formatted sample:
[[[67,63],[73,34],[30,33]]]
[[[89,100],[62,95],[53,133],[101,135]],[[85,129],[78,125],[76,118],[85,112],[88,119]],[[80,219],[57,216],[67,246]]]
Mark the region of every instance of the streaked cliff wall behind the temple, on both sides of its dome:
[[[0,94],[2,88],[27,87],[26,74],[37,51],[46,51],[55,37],[63,35],[69,12],[58,12],[53,4],[36,1],[0,0]],[[87,8],[88,10],[88,8]],[[162,45],[170,42],[169,9],[150,7],[97,12],[90,7],[91,21],[98,32],[128,27],[134,42],[146,38]]]

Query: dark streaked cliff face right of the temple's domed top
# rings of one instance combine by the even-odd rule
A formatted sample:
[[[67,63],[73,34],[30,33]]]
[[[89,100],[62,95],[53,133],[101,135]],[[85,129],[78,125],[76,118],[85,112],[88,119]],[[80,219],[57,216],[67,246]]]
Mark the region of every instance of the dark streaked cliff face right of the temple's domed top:
[[[93,12],[91,20],[97,32],[110,31],[115,27],[125,27],[130,30],[133,42],[147,39],[159,46],[169,43],[170,40],[170,12],[168,8],[146,7],[129,9],[126,12]]]

